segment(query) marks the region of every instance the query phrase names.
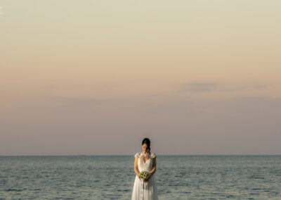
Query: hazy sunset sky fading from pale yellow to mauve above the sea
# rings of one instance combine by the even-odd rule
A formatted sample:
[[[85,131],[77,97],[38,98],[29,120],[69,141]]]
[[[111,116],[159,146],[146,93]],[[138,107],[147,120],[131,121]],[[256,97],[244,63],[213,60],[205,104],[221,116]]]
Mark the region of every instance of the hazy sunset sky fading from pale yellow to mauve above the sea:
[[[0,156],[281,154],[281,1],[0,1]]]

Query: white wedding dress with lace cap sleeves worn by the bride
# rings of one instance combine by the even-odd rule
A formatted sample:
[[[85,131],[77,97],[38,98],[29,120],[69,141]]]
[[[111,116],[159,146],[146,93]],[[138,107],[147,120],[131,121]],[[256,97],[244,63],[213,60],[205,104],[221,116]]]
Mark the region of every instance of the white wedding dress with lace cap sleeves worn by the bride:
[[[137,153],[135,158],[138,157],[138,170],[140,171],[147,171],[150,172],[152,170],[152,162],[153,158],[156,157],[155,154],[151,153],[150,158],[147,161],[143,161],[140,159],[141,153]],[[141,180],[136,175],[135,182],[133,183],[133,194],[131,200],[157,200],[157,186],[155,181],[155,174],[150,177],[148,182],[144,183],[144,190],[143,190],[143,198],[141,198]]]

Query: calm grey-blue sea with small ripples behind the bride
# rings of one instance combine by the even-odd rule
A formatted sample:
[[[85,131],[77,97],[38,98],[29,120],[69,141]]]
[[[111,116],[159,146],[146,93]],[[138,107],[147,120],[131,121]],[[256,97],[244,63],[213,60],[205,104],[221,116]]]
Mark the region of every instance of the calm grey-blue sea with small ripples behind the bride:
[[[0,156],[0,199],[131,199],[132,156]],[[281,156],[157,156],[159,199],[281,199]]]

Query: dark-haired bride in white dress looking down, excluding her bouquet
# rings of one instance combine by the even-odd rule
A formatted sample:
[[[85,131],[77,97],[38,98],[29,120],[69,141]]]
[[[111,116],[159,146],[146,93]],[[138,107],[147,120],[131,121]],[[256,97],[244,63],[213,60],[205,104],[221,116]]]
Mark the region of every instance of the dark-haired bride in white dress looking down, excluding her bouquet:
[[[156,155],[150,153],[150,139],[145,138],[142,142],[143,152],[136,153],[133,169],[136,173],[133,183],[133,194],[131,200],[157,200],[157,186],[155,180]],[[142,171],[150,173],[148,179],[143,180],[139,177]]]

